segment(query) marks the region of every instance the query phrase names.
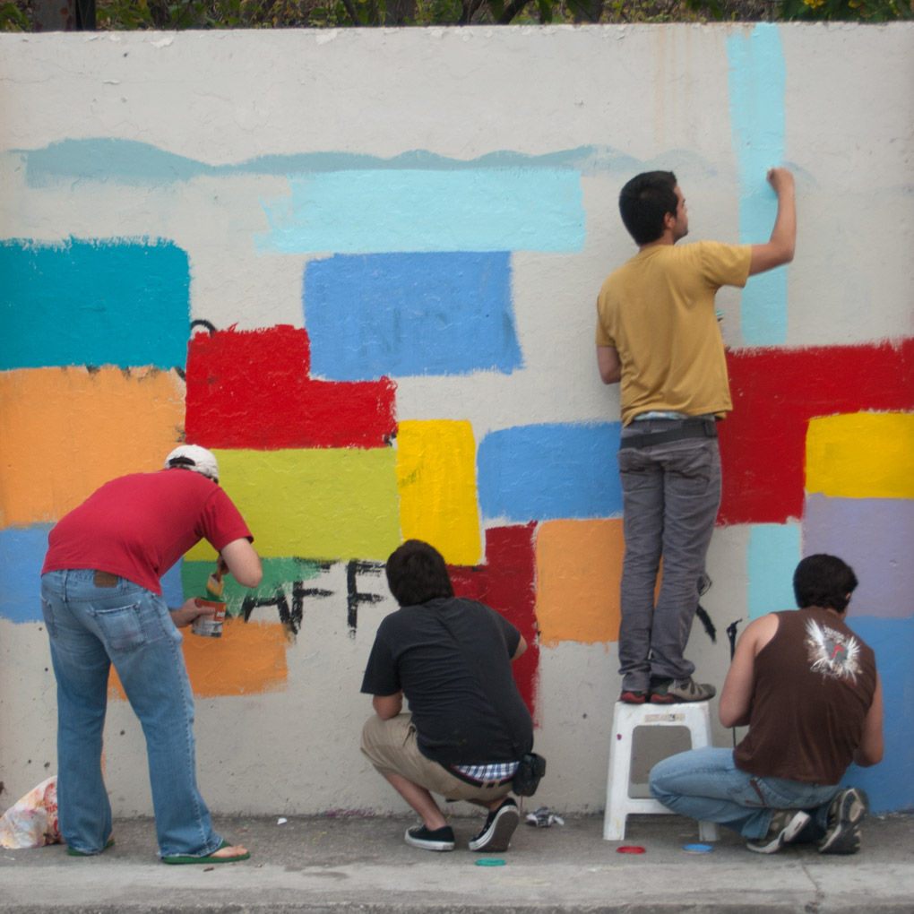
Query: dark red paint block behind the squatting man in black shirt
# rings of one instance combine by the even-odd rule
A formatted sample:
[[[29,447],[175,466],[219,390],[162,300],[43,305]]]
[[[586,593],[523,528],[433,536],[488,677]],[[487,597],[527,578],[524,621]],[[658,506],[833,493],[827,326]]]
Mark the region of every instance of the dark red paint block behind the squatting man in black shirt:
[[[479,600],[505,616],[524,636],[527,648],[512,668],[521,696],[537,721],[539,645],[537,644],[537,525],[500,526],[485,531],[486,564],[449,567],[454,593]]]

